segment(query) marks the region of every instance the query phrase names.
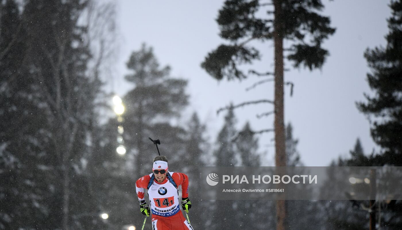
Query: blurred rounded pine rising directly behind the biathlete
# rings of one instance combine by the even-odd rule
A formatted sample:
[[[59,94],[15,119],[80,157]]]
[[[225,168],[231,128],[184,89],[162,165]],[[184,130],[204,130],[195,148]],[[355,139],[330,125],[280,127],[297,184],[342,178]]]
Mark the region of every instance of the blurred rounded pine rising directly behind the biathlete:
[[[127,68],[132,71],[125,76],[135,88],[123,98],[127,106],[124,113],[124,139],[129,149],[136,149],[136,176],[148,174],[152,169],[152,159],[156,149],[148,139],[160,139],[160,151],[168,156],[169,166],[184,154],[185,130],[170,125],[170,119],[179,119],[180,111],[188,104],[185,93],[186,80],[170,77],[170,67],[160,67],[152,48],[143,44],[134,51]]]

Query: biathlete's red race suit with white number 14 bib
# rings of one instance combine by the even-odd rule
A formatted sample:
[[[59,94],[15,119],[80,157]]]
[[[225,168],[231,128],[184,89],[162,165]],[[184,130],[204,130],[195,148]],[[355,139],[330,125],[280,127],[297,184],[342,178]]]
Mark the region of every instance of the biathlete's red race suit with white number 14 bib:
[[[162,183],[156,180],[148,188],[153,174],[139,178],[135,182],[135,191],[138,200],[145,200],[144,189],[148,188],[150,208],[152,212],[152,229],[154,230],[192,230],[193,227],[187,222],[180,212],[178,200],[178,186],[181,185],[182,197],[189,197],[189,178],[183,173],[167,172],[169,176]],[[176,186],[174,186],[176,184]]]

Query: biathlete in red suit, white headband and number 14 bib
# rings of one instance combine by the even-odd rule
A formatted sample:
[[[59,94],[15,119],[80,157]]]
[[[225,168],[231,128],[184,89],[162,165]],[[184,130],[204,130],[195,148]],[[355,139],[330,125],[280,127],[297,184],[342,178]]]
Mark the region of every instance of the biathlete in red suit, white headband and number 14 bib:
[[[168,171],[168,160],[165,156],[154,158],[152,174],[143,176],[135,182],[140,211],[150,216],[150,208],[145,202],[144,188],[148,190],[152,210],[153,230],[193,230],[193,227],[180,212],[178,202],[178,186],[181,185],[181,206],[189,212],[189,178],[183,173]]]

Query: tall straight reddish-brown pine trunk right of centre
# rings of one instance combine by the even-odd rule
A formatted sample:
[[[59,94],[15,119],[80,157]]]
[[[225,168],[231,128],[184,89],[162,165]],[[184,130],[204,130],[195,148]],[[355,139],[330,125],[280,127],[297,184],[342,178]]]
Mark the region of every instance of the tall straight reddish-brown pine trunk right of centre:
[[[274,46],[275,46],[275,165],[286,166],[285,123],[283,121],[283,21],[282,1],[274,0]],[[276,202],[276,229],[285,230],[285,196]]]

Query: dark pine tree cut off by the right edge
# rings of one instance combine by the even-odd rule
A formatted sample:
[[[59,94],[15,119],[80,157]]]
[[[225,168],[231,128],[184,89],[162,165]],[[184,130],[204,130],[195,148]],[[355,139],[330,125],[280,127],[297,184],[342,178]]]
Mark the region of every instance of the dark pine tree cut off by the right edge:
[[[357,103],[358,109],[367,115],[371,123],[371,137],[381,147],[380,153],[363,155],[363,148],[357,140],[350,159],[340,159],[342,165],[383,166],[402,165],[402,1],[390,3],[392,16],[388,18],[389,33],[386,35],[386,47],[375,47],[365,51],[365,58],[371,73],[367,81],[375,92],[373,96],[365,94],[367,102]],[[397,229],[402,219],[400,200],[377,201],[374,209],[381,208],[381,225]],[[386,218],[385,218],[386,217]],[[368,217],[365,218],[368,220]]]

